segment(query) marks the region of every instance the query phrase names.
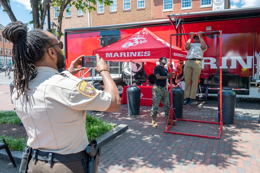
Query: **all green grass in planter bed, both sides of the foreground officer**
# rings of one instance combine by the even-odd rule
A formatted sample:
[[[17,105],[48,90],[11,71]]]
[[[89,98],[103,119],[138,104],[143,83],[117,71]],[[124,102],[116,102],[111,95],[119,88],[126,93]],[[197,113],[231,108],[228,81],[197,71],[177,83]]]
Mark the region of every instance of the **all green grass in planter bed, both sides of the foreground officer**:
[[[102,121],[101,118],[93,117],[91,115],[86,115],[86,132],[88,141],[92,139],[97,139],[102,134],[112,130],[114,126],[108,121]],[[0,111],[0,124],[12,123],[18,124],[21,120],[17,116],[15,111]],[[10,150],[23,151],[26,147],[28,138],[14,138],[12,136],[2,135],[0,139],[4,138]]]

